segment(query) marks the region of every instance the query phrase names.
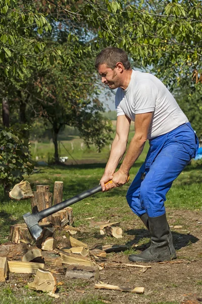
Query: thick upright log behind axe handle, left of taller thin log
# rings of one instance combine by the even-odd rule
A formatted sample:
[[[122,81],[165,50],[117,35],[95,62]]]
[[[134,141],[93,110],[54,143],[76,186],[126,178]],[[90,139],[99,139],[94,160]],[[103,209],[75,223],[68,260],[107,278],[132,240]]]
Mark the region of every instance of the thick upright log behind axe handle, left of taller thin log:
[[[52,206],[53,195],[49,191],[49,186],[37,185],[36,192],[33,192],[34,197],[31,198],[32,213],[42,211]],[[41,222],[52,221],[52,215],[43,218]]]

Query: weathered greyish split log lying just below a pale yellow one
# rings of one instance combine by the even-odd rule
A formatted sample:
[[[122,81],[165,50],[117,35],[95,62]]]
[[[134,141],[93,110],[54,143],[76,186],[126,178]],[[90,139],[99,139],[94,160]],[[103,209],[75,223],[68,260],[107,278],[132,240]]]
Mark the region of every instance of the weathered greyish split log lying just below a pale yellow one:
[[[65,278],[96,281],[99,279],[99,269],[97,267],[68,265]]]

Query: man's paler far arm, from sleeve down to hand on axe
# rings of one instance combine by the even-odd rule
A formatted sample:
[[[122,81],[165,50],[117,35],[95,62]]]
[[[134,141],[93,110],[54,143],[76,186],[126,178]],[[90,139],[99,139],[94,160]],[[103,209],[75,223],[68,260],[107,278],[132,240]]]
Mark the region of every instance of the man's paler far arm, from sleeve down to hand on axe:
[[[100,180],[103,191],[106,189],[105,183],[113,178],[113,174],[126,151],[130,122],[131,120],[125,115],[117,117],[116,136],[112,143],[110,158],[106,165],[105,173]]]

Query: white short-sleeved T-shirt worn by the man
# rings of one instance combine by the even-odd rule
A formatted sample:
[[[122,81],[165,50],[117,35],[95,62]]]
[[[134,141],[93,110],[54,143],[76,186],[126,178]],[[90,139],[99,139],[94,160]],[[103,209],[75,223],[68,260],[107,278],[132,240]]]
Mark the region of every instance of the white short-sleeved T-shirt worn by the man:
[[[175,98],[154,75],[132,70],[126,90],[118,88],[117,116],[126,115],[133,122],[135,114],[154,112],[147,139],[168,133],[188,122]]]

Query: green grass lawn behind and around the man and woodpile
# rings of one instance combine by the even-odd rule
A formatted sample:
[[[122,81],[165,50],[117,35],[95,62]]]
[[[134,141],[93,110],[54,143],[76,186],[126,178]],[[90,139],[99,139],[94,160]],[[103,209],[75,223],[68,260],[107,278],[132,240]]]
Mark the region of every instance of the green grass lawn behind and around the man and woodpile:
[[[75,144],[76,146],[76,144]],[[39,148],[39,144],[38,144]],[[108,147],[109,148],[109,147]],[[91,150],[75,151],[74,157],[76,160],[89,159],[90,164],[81,165],[69,165],[69,166],[38,166],[38,173],[26,178],[33,189],[36,190],[37,184],[47,184],[53,192],[54,182],[61,180],[64,182],[63,198],[67,199],[77,195],[91,187],[94,187],[99,183],[100,177],[102,177],[105,169],[105,165],[108,159],[109,150],[106,148],[102,154],[97,154],[94,147]],[[131,168],[130,181],[132,182],[139,167],[144,161],[148,150],[148,144],[145,145],[142,155],[138,161]],[[41,155],[47,156],[48,148],[46,150],[45,144],[41,145]],[[197,165],[197,166],[196,166]],[[187,166],[180,176],[173,182],[173,186],[167,195],[166,207],[183,210],[201,210],[202,196],[201,196],[201,182],[202,182],[202,167],[200,164],[192,162]],[[108,193],[98,193],[85,200],[73,205],[75,226],[83,225],[88,226],[89,220],[87,217],[94,217],[93,220],[108,220],[113,217],[125,223],[130,223],[134,220],[134,214],[127,205],[125,195],[128,185],[124,185],[121,188],[113,189]],[[3,195],[3,188],[0,187],[0,195]],[[29,201],[5,201],[0,204],[0,243],[8,241],[10,225],[23,222],[22,215],[30,212]],[[177,224],[177,220],[176,223]],[[87,241],[89,244],[94,242],[92,235],[95,235],[97,230],[91,230],[91,234],[85,234],[81,240]],[[125,237],[131,238],[133,232],[131,230],[123,231]],[[92,240],[91,240],[92,238]],[[102,239],[100,239],[102,243]],[[111,238],[105,238],[105,244],[110,244]],[[121,244],[122,240],[117,239],[117,244]],[[138,246],[144,246],[148,243],[147,236],[137,239]],[[137,247],[138,248],[138,247]],[[138,253],[135,248],[129,249],[123,254],[135,254]],[[201,285],[201,281],[196,283]],[[79,286],[79,284],[77,284]],[[12,287],[0,286],[2,294],[2,304],[12,303],[25,303],[25,304],[51,304],[55,303],[55,299],[50,298],[46,294],[42,297],[40,294],[36,295],[36,292],[30,292],[23,288],[23,292],[18,292],[17,289]],[[65,288],[65,287],[64,287]],[[74,288],[74,286],[73,286]],[[199,286],[198,286],[199,288]],[[104,302],[100,298],[96,298],[93,295],[89,298],[83,298],[79,301],[71,302],[68,299],[68,303],[72,304],[103,304]],[[63,304],[63,303],[61,303]],[[152,302],[150,304],[178,304],[177,302]]]

